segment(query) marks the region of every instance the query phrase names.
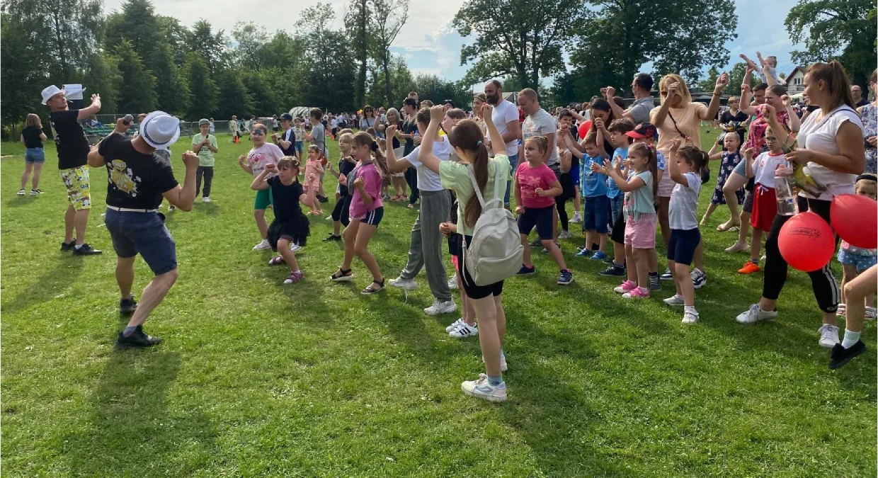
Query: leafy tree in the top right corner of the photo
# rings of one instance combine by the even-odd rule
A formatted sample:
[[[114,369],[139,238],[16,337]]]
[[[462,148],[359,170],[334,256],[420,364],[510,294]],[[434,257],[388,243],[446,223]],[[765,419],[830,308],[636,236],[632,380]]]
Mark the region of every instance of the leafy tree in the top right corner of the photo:
[[[838,59],[853,83],[865,85],[878,64],[878,14],[874,0],[799,0],[784,25],[789,39],[804,43],[792,52],[798,64]]]

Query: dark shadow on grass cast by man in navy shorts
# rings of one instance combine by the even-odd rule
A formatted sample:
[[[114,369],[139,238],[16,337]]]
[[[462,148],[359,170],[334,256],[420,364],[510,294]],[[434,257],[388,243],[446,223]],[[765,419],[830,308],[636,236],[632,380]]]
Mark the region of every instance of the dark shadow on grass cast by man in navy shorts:
[[[160,345],[161,346],[161,345]],[[90,427],[62,453],[75,476],[191,474],[218,452],[214,425],[200,412],[169,412],[176,352],[115,350],[91,395]]]

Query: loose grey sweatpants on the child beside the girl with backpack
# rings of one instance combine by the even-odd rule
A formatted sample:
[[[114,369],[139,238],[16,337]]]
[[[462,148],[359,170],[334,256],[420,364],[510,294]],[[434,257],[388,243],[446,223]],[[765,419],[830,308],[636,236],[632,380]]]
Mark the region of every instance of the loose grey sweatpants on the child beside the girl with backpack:
[[[442,260],[443,235],[439,232],[439,224],[448,221],[450,211],[449,192],[421,190],[421,212],[412,227],[408,262],[399,274],[402,279],[411,280],[426,266],[430,292],[440,301],[451,300],[448,276],[445,275],[445,263]]]

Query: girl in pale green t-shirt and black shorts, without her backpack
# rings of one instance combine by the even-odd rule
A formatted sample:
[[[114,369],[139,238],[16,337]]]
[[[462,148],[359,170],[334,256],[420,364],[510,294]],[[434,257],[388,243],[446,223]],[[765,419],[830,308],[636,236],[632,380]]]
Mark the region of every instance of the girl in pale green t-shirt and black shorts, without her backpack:
[[[488,134],[500,138],[500,132],[491,119],[492,111],[490,105],[483,106],[483,117]],[[485,136],[479,125],[471,119],[463,119],[448,134],[451,146],[460,157],[461,163],[440,161],[433,155],[433,138],[444,115],[442,105],[430,108],[430,124],[421,141],[418,160],[439,175],[443,187],[457,194],[459,213],[457,230],[464,235],[464,244],[458,257],[458,261],[462,264],[461,282],[475,310],[475,315],[479,317],[479,344],[486,369],[486,373],[479,375],[478,380],[464,381],[461,389],[464,394],[476,398],[490,402],[505,402],[506,383],[503,381],[502,371],[506,370],[507,366],[502,349],[503,337],[506,335],[506,313],[503,310],[501,297],[503,281],[484,286],[477,285],[466,267],[467,253],[464,249],[472,247],[474,227],[482,215],[482,201],[473,188],[471,173],[475,177],[484,201],[490,202],[499,193],[500,207],[502,207],[502,195],[506,191],[510,170],[506,145],[499,141],[494,146],[493,159],[489,159]],[[499,180],[497,180],[498,176]]]

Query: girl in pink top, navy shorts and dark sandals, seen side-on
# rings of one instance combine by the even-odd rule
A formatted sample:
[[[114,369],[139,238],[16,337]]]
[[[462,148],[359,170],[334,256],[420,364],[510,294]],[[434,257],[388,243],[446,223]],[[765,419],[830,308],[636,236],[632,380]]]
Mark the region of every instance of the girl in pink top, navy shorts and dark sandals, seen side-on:
[[[354,256],[360,257],[372,274],[372,283],[363,289],[363,295],[378,293],[385,287],[385,278],[378,267],[378,261],[369,251],[369,241],[384,217],[384,203],[381,200],[381,177],[387,175],[384,156],[378,150],[378,143],[362,131],[354,135],[353,156],[359,165],[350,173],[354,179],[349,185],[350,224],[344,228],[344,262],[329,279],[334,282],[349,281],[354,278],[350,264]],[[348,177],[339,177],[342,185],[348,184]]]

